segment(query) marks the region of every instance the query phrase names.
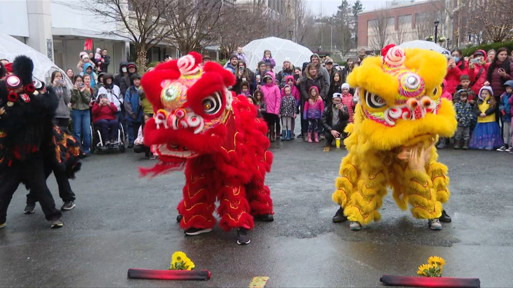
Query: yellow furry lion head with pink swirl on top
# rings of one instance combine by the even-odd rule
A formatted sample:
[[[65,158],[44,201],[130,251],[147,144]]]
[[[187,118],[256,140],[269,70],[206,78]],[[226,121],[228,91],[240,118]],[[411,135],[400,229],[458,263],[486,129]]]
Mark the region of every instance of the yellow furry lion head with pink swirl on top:
[[[457,127],[452,103],[441,98],[446,58],[435,51],[389,45],[348,75],[359,105],[353,132],[380,150],[450,137]],[[355,131],[356,130],[356,131]]]

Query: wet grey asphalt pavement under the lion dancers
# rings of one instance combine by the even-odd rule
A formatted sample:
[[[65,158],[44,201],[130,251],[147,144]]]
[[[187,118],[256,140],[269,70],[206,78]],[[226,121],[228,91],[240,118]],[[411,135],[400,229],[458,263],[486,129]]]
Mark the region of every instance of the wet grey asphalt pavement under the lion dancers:
[[[176,223],[185,179],[175,172],[141,179],[137,166],[154,161],[127,152],[93,155],[71,186],[77,207],[64,212],[64,228],[51,230],[38,206],[24,215],[24,188],[14,194],[7,227],[0,229],[0,286],[247,287],[268,276],[267,287],[380,286],[383,274],[415,276],[432,255],[445,258],[444,276],[478,277],[483,287],[513,285],[513,155],[440,151],[449,167],[452,223],[430,231],[427,220],[383,201],[382,220],[362,231],[334,224],[331,200],[345,150],[323,152],[302,140],[273,143],[267,184],[275,220],[257,222],[251,243],[218,226],[186,237]],[[49,179],[57,205],[56,183]],[[390,194],[390,193],[389,193]],[[184,251],[208,281],[127,279],[129,268],[166,269]]]

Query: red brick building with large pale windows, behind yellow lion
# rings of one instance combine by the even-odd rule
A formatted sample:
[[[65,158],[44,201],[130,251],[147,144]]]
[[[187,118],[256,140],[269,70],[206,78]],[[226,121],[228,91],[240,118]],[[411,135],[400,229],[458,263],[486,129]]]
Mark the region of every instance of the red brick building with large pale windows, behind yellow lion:
[[[379,50],[389,43],[445,35],[444,0],[392,1],[384,8],[365,11],[358,16],[358,49]]]

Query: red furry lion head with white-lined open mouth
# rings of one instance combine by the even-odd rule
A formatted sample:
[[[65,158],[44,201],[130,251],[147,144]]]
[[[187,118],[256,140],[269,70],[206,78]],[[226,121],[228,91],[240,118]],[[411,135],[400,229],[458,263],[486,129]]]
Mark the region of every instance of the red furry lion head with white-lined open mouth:
[[[202,56],[190,52],[157,65],[141,84],[155,112],[144,142],[161,160],[184,162],[221,149],[232,111],[232,73],[215,62],[203,66]]]

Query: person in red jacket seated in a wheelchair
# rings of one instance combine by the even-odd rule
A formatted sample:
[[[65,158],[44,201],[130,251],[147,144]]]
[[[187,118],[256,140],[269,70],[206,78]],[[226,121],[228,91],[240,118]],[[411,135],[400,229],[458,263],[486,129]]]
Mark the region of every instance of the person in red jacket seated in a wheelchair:
[[[106,139],[105,145],[117,142],[117,126],[119,126],[119,123],[116,120],[116,113],[116,105],[109,102],[107,95],[100,94],[93,104],[93,124],[100,127],[102,138]]]

